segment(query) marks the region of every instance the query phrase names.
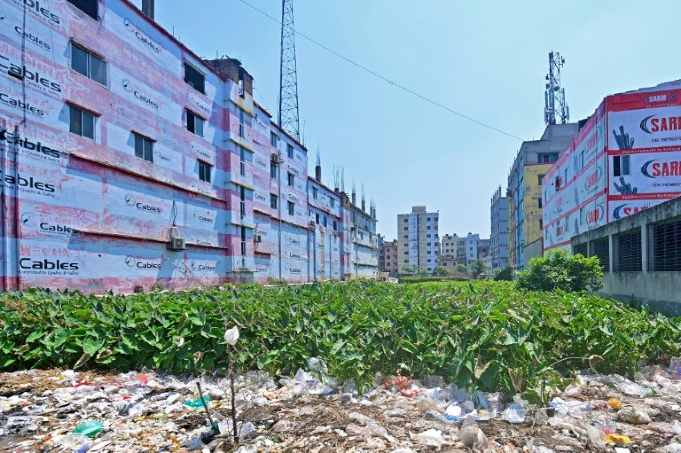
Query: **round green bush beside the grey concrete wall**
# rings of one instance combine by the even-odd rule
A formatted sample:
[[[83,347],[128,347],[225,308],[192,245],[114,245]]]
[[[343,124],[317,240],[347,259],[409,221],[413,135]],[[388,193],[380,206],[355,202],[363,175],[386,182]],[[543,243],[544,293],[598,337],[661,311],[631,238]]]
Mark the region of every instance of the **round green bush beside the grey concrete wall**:
[[[580,292],[603,287],[603,270],[598,257],[569,255],[567,250],[550,251],[530,260],[530,268],[520,272],[518,288],[529,291]]]

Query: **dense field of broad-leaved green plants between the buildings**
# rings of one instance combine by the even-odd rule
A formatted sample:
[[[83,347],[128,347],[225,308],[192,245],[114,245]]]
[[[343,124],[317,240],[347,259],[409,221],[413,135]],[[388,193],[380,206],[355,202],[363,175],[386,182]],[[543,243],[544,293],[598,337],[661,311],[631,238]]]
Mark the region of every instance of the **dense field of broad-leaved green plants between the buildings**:
[[[233,355],[240,370],[295,373],[319,357],[330,375],[360,385],[377,372],[443,375],[459,386],[535,399],[575,369],[631,375],[639,359],[681,348],[681,318],[587,294],[519,292],[503,282],[248,285],[104,297],[31,290],[0,296],[0,370],[225,369],[223,335],[233,325],[241,333]]]

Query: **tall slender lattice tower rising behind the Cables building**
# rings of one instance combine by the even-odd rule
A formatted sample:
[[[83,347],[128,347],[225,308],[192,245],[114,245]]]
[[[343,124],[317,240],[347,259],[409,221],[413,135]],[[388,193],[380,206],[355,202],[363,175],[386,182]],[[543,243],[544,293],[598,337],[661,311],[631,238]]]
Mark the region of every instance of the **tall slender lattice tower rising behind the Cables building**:
[[[279,69],[279,126],[300,140],[298,123],[298,72],[294,2],[281,1],[281,66]]]

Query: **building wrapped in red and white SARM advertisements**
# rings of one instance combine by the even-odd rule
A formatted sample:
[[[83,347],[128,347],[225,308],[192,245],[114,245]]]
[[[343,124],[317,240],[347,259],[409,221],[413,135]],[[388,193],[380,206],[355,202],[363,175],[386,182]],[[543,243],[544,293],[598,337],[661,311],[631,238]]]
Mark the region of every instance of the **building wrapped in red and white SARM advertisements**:
[[[543,185],[544,251],[681,195],[681,82],[605,97]]]

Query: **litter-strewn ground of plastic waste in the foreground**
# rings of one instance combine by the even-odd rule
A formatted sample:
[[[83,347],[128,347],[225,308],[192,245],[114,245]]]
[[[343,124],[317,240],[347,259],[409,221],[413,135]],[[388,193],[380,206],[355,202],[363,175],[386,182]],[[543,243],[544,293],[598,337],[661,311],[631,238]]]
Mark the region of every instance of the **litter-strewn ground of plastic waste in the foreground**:
[[[545,407],[442,377],[378,375],[360,393],[323,360],[306,368],[235,377],[238,441],[224,376],[3,373],[0,451],[681,453],[681,359],[634,381],[585,371]]]

